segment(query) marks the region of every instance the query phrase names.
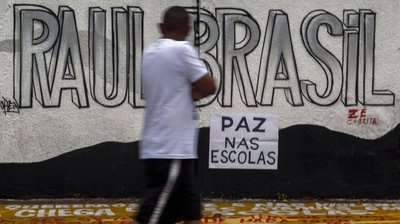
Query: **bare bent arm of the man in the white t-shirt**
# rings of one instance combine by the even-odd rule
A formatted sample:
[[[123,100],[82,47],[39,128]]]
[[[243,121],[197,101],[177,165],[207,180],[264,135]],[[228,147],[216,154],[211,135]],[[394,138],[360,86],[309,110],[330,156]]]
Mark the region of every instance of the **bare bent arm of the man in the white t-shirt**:
[[[194,101],[206,98],[207,96],[213,95],[217,88],[214,83],[214,79],[210,74],[207,74],[192,83],[192,97]]]

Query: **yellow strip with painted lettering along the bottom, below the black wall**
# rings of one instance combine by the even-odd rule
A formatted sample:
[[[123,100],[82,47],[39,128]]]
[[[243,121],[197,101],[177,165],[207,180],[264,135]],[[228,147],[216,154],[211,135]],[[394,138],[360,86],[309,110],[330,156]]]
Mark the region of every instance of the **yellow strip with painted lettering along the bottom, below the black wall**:
[[[0,224],[132,223],[134,199],[1,200]],[[398,201],[205,200],[204,223],[399,223]]]

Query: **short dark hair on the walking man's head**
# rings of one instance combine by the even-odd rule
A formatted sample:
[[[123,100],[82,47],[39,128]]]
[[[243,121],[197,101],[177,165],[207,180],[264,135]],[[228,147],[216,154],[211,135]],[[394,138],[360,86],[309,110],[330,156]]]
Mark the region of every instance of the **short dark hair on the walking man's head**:
[[[165,31],[182,30],[189,26],[189,14],[181,6],[172,6],[164,13]]]

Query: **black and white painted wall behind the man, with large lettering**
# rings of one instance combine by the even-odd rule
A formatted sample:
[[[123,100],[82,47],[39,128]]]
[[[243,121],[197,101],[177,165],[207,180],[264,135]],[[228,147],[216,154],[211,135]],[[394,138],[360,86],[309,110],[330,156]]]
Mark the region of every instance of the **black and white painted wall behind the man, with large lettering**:
[[[219,86],[203,196],[399,197],[396,0],[0,1],[0,197],[140,195],[141,53],[172,5]],[[278,170],[208,169],[215,112],[277,115]]]

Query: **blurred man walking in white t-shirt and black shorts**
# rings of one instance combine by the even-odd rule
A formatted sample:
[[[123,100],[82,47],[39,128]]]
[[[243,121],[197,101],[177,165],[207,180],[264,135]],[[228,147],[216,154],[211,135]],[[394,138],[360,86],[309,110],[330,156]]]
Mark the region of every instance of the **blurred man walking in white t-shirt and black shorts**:
[[[195,49],[185,41],[189,22],[184,8],[169,8],[160,24],[162,38],[143,55],[146,116],[139,156],[147,180],[136,217],[141,224],[200,223],[193,101],[214,94],[216,87]]]

